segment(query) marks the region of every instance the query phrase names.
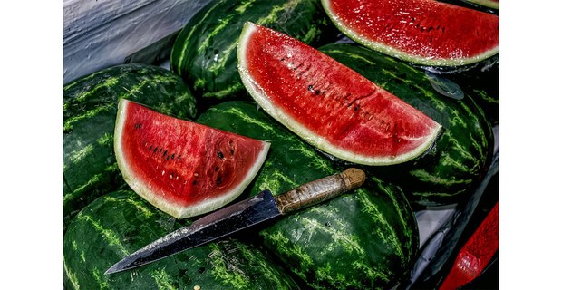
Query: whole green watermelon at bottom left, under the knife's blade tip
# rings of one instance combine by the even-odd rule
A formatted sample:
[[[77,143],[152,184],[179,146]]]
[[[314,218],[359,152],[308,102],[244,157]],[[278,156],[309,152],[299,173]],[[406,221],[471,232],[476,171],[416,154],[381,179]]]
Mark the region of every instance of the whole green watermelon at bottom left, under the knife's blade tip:
[[[131,271],[103,275],[121,258],[189,225],[131,190],[94,200],[63,237],[65,289],[297,289],[269,256],[234,238],[189,249]]]

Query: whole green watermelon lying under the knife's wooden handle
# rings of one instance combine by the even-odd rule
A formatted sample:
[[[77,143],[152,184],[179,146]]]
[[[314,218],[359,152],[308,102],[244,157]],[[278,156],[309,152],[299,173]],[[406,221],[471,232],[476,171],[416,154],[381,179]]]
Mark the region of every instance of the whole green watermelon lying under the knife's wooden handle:
[[[340,170],[255,102],[223,102],[197,121],[271,140],[250,195],[264,189],[282,194]],[[415,217],[401,189],[373,176],[360,189],[278,219],[260,237],[306,289],[390,289],[409,277],[419,247]]]

